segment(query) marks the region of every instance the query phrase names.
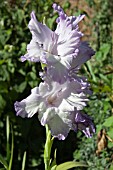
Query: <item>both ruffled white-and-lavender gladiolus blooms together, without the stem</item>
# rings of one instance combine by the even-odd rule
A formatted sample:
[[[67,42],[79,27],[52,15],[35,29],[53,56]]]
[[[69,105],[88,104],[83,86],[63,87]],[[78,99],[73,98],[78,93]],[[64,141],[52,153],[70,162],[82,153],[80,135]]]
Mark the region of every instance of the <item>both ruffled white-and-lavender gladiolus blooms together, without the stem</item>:
[[[88,43],[81,41],[83,34],[78,23],[84,15],[68,17],[57,4],[53,4],[53,9],[59,15],[55,31],[39,23],[35,13],[31,13],[28,27],[32,39],[21,60],[44,64],[40,73],[43,82],[26,99],[15,102],[15,111],[22,118],[37,114],[41,124],[47,124],[59,140],[64,140],[70,130],[78,129],[92,137],[92,119],[82,112],[90,94],[89,83],[78,76],[80,66],[94,55]]]

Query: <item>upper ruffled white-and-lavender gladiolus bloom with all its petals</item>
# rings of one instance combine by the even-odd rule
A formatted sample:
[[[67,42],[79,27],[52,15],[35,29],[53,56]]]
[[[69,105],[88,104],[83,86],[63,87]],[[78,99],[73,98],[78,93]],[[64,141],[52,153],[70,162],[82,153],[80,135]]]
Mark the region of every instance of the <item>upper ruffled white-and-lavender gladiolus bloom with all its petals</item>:
[[[45,63],[51,78],[64,83],[69,77],[70,70],[73,67],[78,69],[94,55],[94,51],[87,43],[80,42],[83,34],[79,31],[78,23],[84,15],[68,17],[57,4],[53,4],[53,8],[59,14],[55,31],[39,23],[35,13],[31,13],[28,27],[32,33],[32,40],[27,46],[27,54],[21,59]]]

